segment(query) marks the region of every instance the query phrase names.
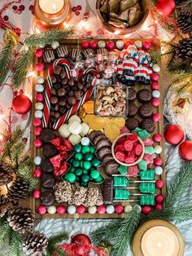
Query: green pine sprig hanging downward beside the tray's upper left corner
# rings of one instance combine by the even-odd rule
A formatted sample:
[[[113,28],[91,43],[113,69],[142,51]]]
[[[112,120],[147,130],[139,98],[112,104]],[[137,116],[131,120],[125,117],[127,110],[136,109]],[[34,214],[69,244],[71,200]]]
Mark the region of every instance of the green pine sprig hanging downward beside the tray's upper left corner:
[[[33,53],[33,46],[28,46],[28,49],[26,48],[26,46],[24,46],[24,49],[20,52],[20,56],[18,60],[16,60],[15,62],[12,77],[12,83],[13,86],[15,86],[15,88],[19,87],[22,84],[22,82],[24,82],[24,78],[26,76],[26,73],[28,72],[28,68],[30,67],[33,61]]]

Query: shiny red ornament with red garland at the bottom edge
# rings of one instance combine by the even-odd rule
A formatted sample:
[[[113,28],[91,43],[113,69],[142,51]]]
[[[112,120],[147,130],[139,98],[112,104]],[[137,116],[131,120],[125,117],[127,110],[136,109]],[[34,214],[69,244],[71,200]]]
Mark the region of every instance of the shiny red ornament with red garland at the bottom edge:
[[[89,256],[90,250],[93,250],[95,253],[95,256],[107,256],[108,254],[106,253],[105,249],[98,249],[94,245],[88,245],[88,244],[83,244],[82,242],[76,242],[76,243],[71,243],[71,244],[63,244],[63,245],[58,245],[55,248],[55,252],[53,256],[58,256],[57,252],[58,249],[63,249],[63,256],[65,254],[69,254],[69,256]]]

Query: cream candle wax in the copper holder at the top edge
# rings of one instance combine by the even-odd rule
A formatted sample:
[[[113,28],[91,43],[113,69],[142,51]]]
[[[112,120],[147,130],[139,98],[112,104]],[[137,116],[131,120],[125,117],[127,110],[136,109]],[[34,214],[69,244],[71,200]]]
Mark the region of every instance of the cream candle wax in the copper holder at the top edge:
[[[64,0],[39,0],[39,7],[47,14],[55,14],[62,10]]]

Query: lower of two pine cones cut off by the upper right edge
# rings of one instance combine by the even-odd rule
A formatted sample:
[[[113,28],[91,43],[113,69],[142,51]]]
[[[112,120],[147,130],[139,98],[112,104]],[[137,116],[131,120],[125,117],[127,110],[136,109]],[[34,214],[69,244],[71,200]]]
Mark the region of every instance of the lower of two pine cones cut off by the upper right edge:
[[[191,64],[192,60],[192,38],[185,38],[177,44],[176,55],[179,60]]]

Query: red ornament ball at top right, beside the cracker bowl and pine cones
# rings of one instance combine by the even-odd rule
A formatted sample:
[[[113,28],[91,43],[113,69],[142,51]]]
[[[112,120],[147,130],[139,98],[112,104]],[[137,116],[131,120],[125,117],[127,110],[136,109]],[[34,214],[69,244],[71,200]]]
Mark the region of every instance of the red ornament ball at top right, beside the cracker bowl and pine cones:
[[[175,10],[176,4],[174,0],[158,0],[156,2],[156,10],[160,15],[170,16]]]

